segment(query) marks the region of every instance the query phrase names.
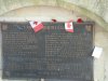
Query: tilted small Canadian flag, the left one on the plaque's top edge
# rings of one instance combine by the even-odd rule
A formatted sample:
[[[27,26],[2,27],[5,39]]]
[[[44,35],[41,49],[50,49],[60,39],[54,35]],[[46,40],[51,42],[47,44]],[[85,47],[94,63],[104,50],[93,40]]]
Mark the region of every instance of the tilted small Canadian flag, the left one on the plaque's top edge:
[[[35,32],[40,31],[41,29],[43,29],[43,24],[41,22],[35,22],[35,21],[30,21],[29,24],[31,25],[31,27],[33,28]]]

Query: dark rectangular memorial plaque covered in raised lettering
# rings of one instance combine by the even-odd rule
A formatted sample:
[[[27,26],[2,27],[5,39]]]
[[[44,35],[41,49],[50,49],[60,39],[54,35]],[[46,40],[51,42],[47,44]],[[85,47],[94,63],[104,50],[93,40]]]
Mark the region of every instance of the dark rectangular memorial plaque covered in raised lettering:
[[[29,23],[1,23],[4,79],[93,81],[93,25],[43,23],[35,32]]]

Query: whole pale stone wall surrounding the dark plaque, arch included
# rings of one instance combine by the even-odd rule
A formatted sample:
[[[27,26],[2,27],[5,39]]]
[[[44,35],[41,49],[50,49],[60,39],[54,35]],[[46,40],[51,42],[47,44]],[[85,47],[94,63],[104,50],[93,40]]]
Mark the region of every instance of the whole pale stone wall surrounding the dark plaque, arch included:
[[[99,59],[95,58],[95,81],[108,81],[107,14],[108,0],[0,0],[1,22],[26,22],[27,19],[51,21],[52,18],[65,22],[70,18],[76,21],[77,17],[96,22],[95,45],[102,46],[104,52]]]

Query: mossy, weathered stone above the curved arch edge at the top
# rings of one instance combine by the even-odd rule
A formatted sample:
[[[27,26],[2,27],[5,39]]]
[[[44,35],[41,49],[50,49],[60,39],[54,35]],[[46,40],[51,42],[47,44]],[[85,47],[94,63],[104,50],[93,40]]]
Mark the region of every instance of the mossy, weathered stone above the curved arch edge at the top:
[[[2,16],[9,11],[31,5],[52,5],[76,10],[108,30],[107,0],[0,0],[0,14]]]

